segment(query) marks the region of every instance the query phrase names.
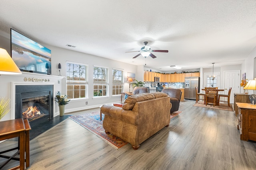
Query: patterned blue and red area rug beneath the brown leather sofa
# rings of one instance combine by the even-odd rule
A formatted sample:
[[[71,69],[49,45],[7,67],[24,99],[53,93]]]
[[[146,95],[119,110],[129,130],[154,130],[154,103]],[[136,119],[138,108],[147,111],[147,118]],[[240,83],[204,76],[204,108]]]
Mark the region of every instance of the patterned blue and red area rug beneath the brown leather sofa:
[[[170,118],[175,117],[180,114],[181,111],[174,111],[171,113]],[[84,113],[82,115],[73,115],[69,117],[88,131],[92,132],[94,135],[110,144],[115,149],[119,149],[127,144],[126,141],[123,141],[119,137],[116,137],[113,134],[106,134],[105,130],[102,127],[102,122],[104,119],[104,114],[102,114],[102,121],[100,120],[100,111],[95,111],[92,113]]]

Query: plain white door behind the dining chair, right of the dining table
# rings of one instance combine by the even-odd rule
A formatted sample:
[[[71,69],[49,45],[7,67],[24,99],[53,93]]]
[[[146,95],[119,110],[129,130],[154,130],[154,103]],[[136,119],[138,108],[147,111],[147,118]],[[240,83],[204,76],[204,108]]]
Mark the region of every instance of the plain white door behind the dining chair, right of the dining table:
[[[228,90],[232,87],[230,93],[230,103],[234,104],[234,93],[240,93],[240,70],[224,71],[224,89],[225,94],[228,94]],[[221,99],[223,100],[223,99]],[[227,98],[225,98],[227,101]]]

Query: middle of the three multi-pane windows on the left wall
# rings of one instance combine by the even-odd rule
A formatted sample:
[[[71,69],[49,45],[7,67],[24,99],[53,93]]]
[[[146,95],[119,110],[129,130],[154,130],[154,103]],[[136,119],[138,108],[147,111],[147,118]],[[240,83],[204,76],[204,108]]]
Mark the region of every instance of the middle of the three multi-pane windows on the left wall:
[[[108,68],[93,67],[93,96],[108,96]]]

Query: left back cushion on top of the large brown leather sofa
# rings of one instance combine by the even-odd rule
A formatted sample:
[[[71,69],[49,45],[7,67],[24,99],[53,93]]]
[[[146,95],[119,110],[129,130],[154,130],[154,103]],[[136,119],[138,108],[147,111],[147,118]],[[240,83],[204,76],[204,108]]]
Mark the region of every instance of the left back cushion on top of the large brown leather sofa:
[[[134,105],[137,102],[151,100],[151,99],[154,99],[154,98],[155,98],[155,96],[153,94],[150,94],[150,93],[140,93],[140,94],[135,94],[135,95],[129,96],[124,101],[123,109],[124,110],[132,110]]]

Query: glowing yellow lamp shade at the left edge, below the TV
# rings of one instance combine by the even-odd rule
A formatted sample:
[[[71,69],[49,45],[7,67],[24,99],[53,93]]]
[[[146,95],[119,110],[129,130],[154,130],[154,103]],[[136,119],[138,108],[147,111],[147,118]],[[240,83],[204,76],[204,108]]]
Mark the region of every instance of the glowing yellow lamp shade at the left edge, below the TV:
[[[0,74],[22,74],[5,49],[0,48]]]

